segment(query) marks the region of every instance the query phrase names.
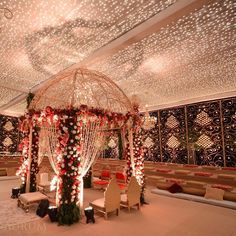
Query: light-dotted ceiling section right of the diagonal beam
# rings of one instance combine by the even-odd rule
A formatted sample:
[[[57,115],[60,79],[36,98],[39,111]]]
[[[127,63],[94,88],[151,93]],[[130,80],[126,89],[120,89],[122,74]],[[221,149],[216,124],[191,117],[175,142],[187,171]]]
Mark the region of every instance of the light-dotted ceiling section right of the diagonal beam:
[[[234,1],[213,1],[91,68],[150,106],[231,91],[234,14]]]

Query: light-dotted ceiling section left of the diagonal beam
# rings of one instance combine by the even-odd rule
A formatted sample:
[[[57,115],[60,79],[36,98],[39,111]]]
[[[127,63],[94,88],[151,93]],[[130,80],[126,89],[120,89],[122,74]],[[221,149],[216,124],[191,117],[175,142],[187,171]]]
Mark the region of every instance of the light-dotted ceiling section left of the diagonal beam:
[[[81,61],[176,0],[1,1],[14,14],[1,22],[0,106]],[[4,72],[4,74],[2,73]]]

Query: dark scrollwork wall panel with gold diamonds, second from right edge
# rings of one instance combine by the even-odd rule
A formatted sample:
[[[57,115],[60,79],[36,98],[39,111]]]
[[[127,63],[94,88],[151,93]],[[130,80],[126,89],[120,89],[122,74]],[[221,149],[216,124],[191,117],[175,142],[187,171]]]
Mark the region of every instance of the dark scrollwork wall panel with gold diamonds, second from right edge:
[[[198,165],[224,166],[220,101],[187,106],[188,143]]]

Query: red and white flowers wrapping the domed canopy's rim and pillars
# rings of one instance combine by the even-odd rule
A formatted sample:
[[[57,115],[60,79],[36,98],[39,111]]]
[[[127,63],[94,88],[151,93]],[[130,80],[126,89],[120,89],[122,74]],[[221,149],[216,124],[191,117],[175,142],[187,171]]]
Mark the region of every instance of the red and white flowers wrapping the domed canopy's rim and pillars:
[[[30,116],[30,119],[28,119]],[[58,128],[58,147],[57,153],[57,165],[58,175],[54,179],[54,185],[57,186],[57,205],[58,205],[58,220],[59,224],[72,224],[79,221],[80,210],[77,207],[80,194],[80,151],[82,140],[82,127],[83,119],[99,119],[101,126],[106,125],[109,128],[122,127],[127,121],[132,120],[133,127],[140,126],[140,119],[135,114],[127,113],[126,115],[108,112],[102,109],[89,109],[87,106],[80,106],[79,109],[52,109],[46,107],[43,111],[29,111],[29,115],[26,115],[28,119],[28,125],[32,127],[32,146],[31,146],[31,167],[30,167],[30,191],[36,189],[36,174],[38,173],[38,128],[41,125],[51,126],[54,125]],[[136,128],[135,128],[136,129]],[[133,129],[133,130],[135,130]],[[142,169],[141,163],[141,143],[139,139],[134,138],[134,155],[135,166]],[[137,144],[137,146],[135,146]],[[29,148],[29,144],[28,144]],[[139,148],[139,151],[138,151]],[[129,146],[126,148],[129,149]],[[129,152],[127,152],[128,155]],[[29,153],[25,154],[27,157]],[[140,159],[139,159],[140,158]],[[127,158],[130,159],[130,158]],[[131,162],[130,162],[131,166]],[[128,168],[130,173],[127,176],[132,175],[132,168]],[[27,176],[29,168],[25,168],[25,177]],[[23,172],[22,172],[23,173]],[[142,170],[135,174],[142,174]],[[140,182],[141,184],[143,182]]]

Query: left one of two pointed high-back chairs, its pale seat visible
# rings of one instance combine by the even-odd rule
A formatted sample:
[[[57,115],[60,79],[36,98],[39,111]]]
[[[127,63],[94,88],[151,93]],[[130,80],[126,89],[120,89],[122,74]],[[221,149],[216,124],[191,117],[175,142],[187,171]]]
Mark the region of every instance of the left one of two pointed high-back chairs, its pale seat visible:
[[[104,213],[105,219],[110,212],[116,211],[119,215],[120,212],[120,189],[116,183],[116,179],[111,179],[106,191],[104,192],[104,198],[97,199],[89,203],[95,210]]]

